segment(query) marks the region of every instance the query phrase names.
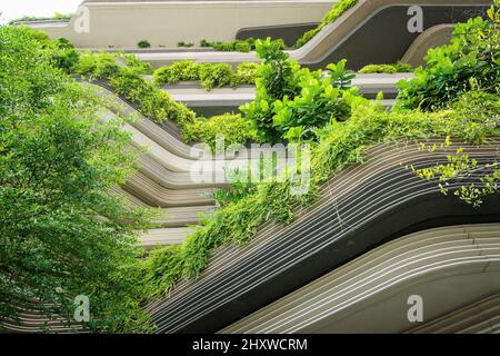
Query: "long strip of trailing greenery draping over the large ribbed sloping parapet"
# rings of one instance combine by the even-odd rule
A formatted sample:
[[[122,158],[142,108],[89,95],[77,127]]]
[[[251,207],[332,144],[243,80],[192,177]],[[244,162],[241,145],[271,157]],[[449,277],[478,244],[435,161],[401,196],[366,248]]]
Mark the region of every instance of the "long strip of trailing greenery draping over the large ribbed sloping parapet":
[[[322,182],[346,165],[361,162],[366,149],[376,142],[444,136],[453,136],[466,141],[470,139],[469,118],[450,110],[432,113],[388,112],[380,105],[370,103],[357,96],[350,98],[349,105],[352,111],[349,120],[331,121],[317,132],[319,144],[312,152],[311,184],[307,196],[290,195],[288,181],[268,181],[258,185],[254,192],[227,204],[210,219],[200,224],[176,250],[176,258],[169,257],[169,264],[174,261],[174,267],[169,269],[169,283],[160,278],[159,269],[144,270],[151,284],[151,296],[164,294],[182,277],[197,276],[217,247],[248,241],[264,222],[290,222],[293,218],[294,204],[309,205],[314,201]],[[484,138],[499,134],[498,127],[482,127],[476,137]],[[151,265],[162,266],[161,253],[157,254],[151,258],[159,260],[151,261]]]

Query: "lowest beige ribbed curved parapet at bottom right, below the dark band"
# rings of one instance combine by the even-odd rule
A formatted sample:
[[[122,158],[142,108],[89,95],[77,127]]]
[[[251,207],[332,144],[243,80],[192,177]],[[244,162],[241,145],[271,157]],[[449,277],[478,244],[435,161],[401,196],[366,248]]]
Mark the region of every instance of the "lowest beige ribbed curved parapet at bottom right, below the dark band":
[[[404,332],[500,291],[499,230],[499,224],[468,225],[401,237],[221,333]],[[421,320],[408,317],[413,300],[421,301]],[[450,324],[441,320],[420,330],[447,333]]]

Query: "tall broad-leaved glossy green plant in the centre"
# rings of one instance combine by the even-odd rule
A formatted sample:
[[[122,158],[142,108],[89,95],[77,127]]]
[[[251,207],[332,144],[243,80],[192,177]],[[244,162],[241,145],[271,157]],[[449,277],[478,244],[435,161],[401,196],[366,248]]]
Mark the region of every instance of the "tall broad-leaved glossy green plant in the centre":
[[[324,77],[321,70],[300,68],[269,38],[258,40],[256,48],[257,56],[263,59],[257,96],[240,110],[258,140],[310,139],[316,128],[349,117],[346,97],[356,90],[349,89],[352,75],[346,71],[346,61],[330,66],[330,76]]]

